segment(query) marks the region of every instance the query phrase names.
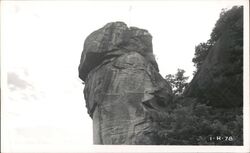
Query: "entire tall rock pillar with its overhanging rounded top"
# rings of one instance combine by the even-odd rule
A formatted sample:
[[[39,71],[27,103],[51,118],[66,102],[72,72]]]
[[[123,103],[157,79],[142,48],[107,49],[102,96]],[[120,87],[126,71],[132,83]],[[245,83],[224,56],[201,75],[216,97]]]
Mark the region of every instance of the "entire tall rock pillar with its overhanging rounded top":
[[[146,30],[113,22],[86,38],[79,77],[94,144],[157,144],[154,114],[172,98],[158,71]]]

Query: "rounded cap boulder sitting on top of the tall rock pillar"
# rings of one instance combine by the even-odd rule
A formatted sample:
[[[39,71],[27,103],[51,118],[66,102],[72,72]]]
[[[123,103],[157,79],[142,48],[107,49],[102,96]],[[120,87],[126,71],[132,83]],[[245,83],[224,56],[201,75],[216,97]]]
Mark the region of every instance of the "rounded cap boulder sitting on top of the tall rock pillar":
[[[79,65],[79,77],[85,81],[88,73],[96,66],[130,51],[138,52],[148,61],[152,61],[158,71],[152,51],[152,36],[147,30],[128,28],[123,22],[106,24],[86,38]]]

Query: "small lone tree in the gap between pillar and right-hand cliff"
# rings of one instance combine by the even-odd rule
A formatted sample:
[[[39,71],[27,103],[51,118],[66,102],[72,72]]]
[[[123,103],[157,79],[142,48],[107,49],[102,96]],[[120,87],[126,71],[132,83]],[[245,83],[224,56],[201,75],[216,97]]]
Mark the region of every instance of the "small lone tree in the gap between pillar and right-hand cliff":
[[[189,77],[184,76],[185,70],[177,69],[177,73],[175,75],[168,74],[165,79],[170,83],[173,93],[175,95],[181,95],[187,86],[187,79]]]

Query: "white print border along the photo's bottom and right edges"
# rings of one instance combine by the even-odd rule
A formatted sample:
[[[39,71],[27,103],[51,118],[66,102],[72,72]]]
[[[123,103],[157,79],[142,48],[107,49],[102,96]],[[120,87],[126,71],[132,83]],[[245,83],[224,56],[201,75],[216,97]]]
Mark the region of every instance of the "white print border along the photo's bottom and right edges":
[[[141,3],[143,1],[137,1],[137,3],[139,2]],[[153,1],[147,1],[147,3],[149,2],[154,3]],[[238,2],[244,5],[244,108],[243,108],[244,146],[15,145],[13,148],[15,150],[13,151],[18,150],[18,152],[250,152],[250,148],[249,148],[249,143],[250,143],[249,141],[249,122],[250,122],[249,121],[249,94],[250,94],[249,93],[249,71],[250,71],[249,70],[249,1],[241,0]],[[1,5],[1,7],[3,6]],[[3,40],[1,40],[1,50],[3,49],[3,45],[4,45]],[[1,55],[3,55],[3,52],[1,52]],[[4,59],[2,57],[3,56],[1,56],[1,61],[3,63]],[[1,64],[1,71],[2,71],[1,73],[1,87],[2,87],[1,100],[4,100],[4,95],[5,95],[4,89],[6,89],[7,86],[6,86],[6,71],[2,64]],[[1,135],[2,134],[4,134],[4,131],[1,130]],[[4,144],[4,143],[1,142],[1,144]]]

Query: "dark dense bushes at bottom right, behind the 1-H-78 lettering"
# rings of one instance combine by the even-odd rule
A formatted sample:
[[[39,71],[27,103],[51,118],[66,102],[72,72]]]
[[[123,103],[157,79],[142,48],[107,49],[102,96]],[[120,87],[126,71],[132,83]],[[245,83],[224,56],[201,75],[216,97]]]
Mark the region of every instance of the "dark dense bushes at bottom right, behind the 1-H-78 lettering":
[[[242,145],[242,108],[218,109],[186,98],[174,105],[160,115],[155,134],[161,145]]]

